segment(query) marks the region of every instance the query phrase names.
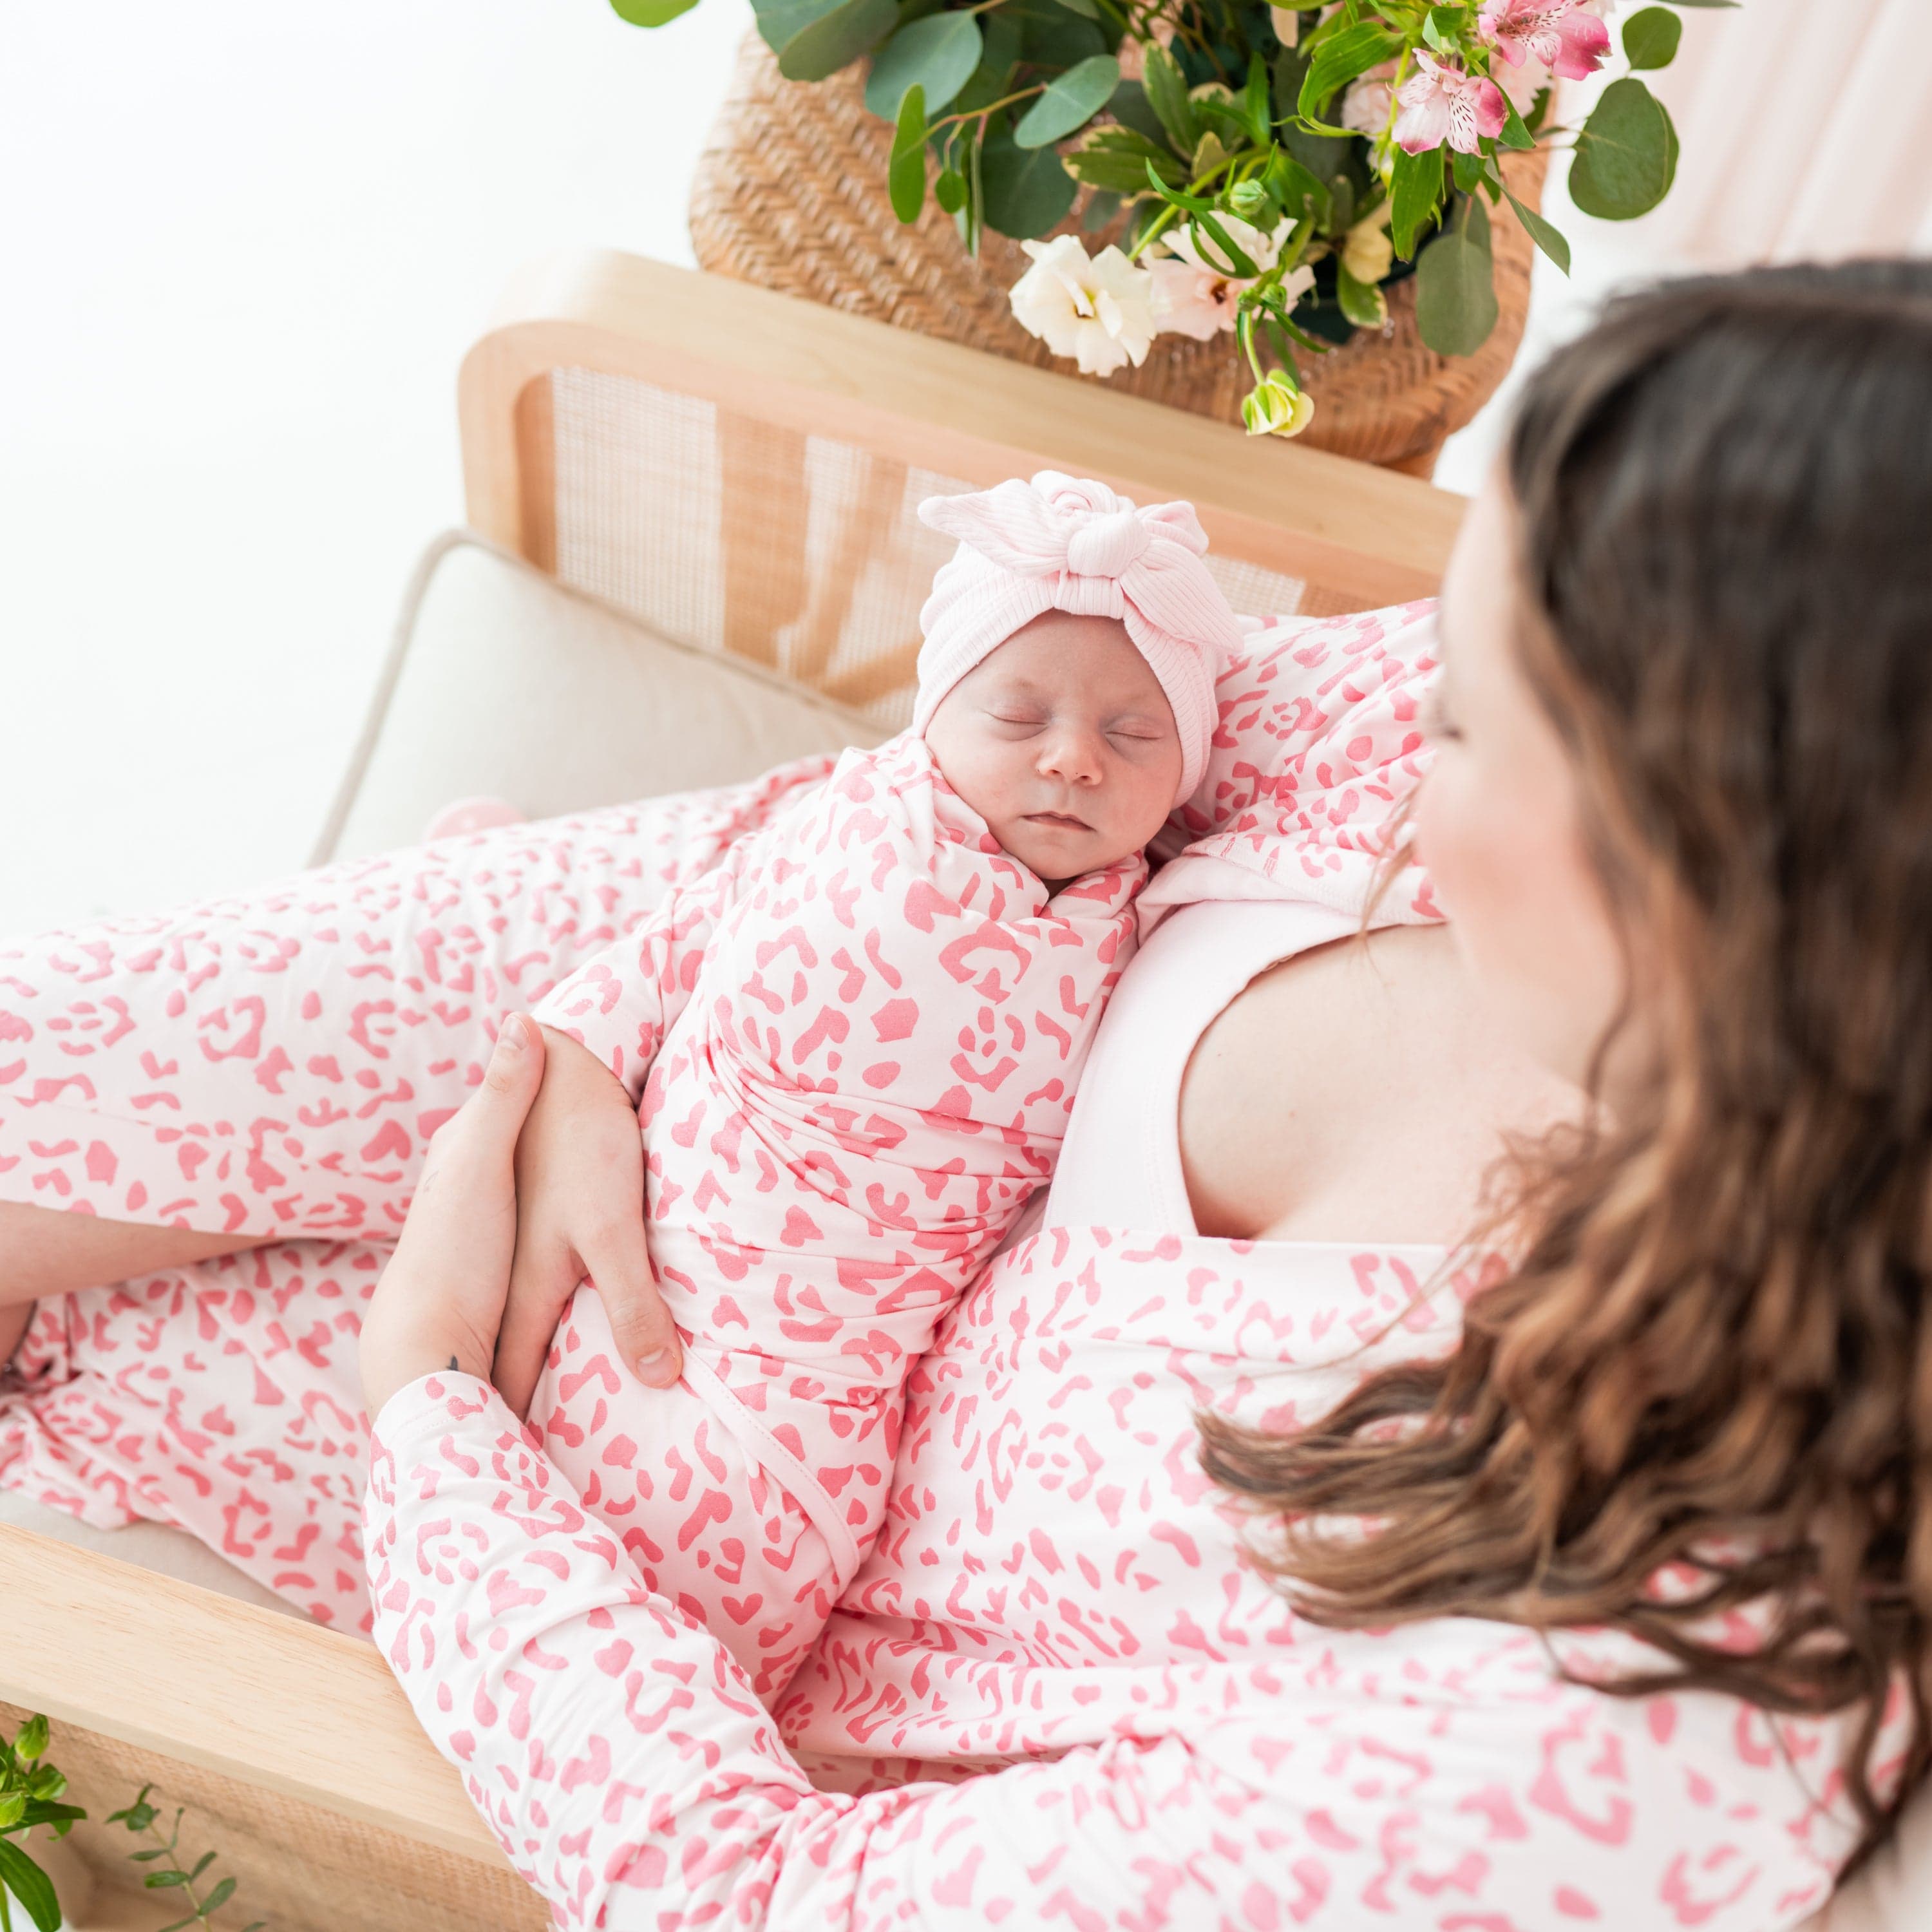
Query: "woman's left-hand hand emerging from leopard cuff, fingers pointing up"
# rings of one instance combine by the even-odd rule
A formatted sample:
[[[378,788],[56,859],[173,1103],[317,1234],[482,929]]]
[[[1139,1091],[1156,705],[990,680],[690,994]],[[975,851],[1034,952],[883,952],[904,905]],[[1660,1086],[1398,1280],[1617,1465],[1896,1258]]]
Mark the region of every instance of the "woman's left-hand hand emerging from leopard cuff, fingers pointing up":
[[[437,1370],[489,1376],[516,1250],[516,1136],[543,1080],[537,1024],[512,1012],[483,1086],[437,1128],[361,1329],[369,1418]]]

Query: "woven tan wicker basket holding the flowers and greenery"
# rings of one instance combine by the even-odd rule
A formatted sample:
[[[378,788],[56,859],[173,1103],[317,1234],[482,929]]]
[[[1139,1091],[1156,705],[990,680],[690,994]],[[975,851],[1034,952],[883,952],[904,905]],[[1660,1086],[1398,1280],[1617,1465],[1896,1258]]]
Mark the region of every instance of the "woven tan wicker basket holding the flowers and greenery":
[[[893,129],[866,112],[864,73],[815,85],[786,81],[765,43],[748,35],[730,93],[692,185],[692,245],[703,269],[871,315],[949,342],[1103,381],[1153,402],[1240,421],[1246,365],[1233,340],[1155,336],[1138,369],[1080,377],[1030,336],[1007,303],[1026,269],[1016,242],[987,234],[972,261],[933,201],[902,226],[885,197]],[[1511,155],[1511,191],[1542,197],[1548,156]],[[1078,209],[1076,209],[1078,214]],[[1074,228],[1068,218],[1065,228]],[[1416,334],[1416,284],[1389,292],[1379,338],[1358,332],[1329,355],[1306,357],[1316,398],[1306,440],[1341,456],[1426,475],[1443,439],[1461,429],[1503,381],[1530,301],[1532,243],[1507,209],[1495,218],[1495,296],[1501,317],[1468,357],[1437,355]]]

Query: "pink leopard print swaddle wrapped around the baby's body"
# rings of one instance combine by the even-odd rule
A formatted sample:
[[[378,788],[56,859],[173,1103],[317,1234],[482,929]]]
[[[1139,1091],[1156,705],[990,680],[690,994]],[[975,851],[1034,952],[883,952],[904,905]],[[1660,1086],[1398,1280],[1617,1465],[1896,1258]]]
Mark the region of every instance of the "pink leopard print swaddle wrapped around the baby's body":
[[[906,1372],[1053,1175],[1144,879],[1049,900],[908,734],[537,1009],[641,1101],[688,1350],[645,1389],[583,1287],[531,1426],[765,1696],[877,1532]]]

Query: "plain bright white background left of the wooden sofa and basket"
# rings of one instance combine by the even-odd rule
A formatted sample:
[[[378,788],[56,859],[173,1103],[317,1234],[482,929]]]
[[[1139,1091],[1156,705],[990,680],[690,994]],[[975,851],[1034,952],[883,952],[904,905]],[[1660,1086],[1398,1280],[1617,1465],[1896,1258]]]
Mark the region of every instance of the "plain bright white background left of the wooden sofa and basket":
[[[0,0],[0,933],[303,864],[462,520],[464,350],[533,255],[690,261],[748,19]]]

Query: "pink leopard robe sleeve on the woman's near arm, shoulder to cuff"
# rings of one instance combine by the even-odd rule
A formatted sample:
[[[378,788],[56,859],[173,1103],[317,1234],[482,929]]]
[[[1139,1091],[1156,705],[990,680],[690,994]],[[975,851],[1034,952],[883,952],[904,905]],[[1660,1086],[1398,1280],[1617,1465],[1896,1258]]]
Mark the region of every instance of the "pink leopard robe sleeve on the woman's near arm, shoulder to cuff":
[[[375,1638],[566,1932],[1764,1932],[1830,1889],[1741,1706],[1665,1727],[1548,1677],[1432,1700],[1391,1673],[964,1783],[819,1793],[487,1383],[423,1378],[375,1435]]]

